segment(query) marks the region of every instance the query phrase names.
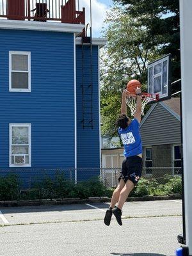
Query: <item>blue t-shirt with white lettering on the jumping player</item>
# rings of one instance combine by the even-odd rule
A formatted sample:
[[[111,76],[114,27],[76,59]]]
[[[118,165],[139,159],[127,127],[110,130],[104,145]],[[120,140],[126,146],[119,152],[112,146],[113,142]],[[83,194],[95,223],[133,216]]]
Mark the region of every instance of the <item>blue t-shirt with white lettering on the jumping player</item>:
[[[134,118],[126,129],[119,128],[118,133],[124,144],[124,156],[136,156],[142,153],[142,142],[140,135],[140,124]]]

